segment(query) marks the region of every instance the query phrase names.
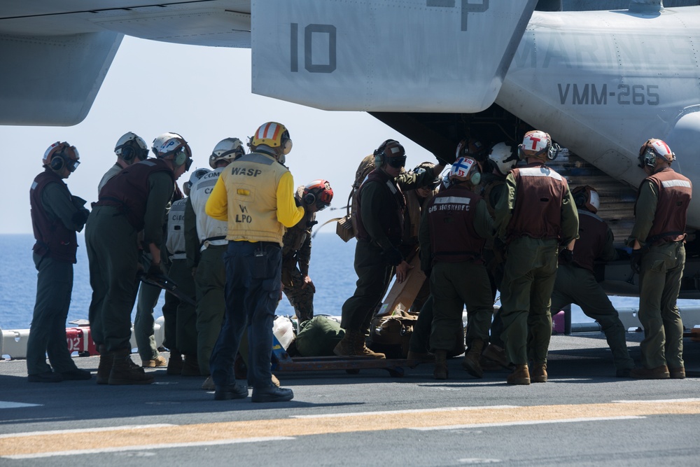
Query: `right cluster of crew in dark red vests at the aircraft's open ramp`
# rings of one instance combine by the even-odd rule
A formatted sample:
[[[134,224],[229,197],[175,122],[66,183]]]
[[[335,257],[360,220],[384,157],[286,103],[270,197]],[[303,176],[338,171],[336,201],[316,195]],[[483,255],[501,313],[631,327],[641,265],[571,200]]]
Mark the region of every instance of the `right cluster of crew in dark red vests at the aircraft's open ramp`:
[[[675,155],[664,141],[650,139],[640,148],[639,167],[647,178],[626,241],[640,277],[639,319],[645,330],[642,365],[636,368],[624,326],[594,276],[596,260],[618,258],[612,232],[596,214],[600,197],[590,186],[571,191],[566,179],[547,167],[556,151],[549,134],[538,130],[524,135],[517,152],[504,143],[489,151],[475,139],[458,145],[447,180],[421,212],[419,254],[430,298],[414,326],[409,361],[434,361],[435,379],[447,379],[447,357],[464,349],[455,345],[455,336],[459,342],[466,308],[462,366],[470,375],[483,377],[484,367],[495,365],[512,369],[508,384],[547,382],[550,310],[574,303],[600,323],[617,377],[685,377],[675,303],[692,184],[671,169]],[[405,193],[428,186],[447,165],[437,156],[432,168],[402,171],[405,151],[393,140],[374,157],[377,168],[358,190],[358,282],[342,309],[346,334],[335,348],[339,356],[386,357],[365,346],[365,335],[393,275],[401,282],[410,268],[401,250]],[[526,164],[517,167],[519,161]],[[494,315],[497,290],[501,306]]]

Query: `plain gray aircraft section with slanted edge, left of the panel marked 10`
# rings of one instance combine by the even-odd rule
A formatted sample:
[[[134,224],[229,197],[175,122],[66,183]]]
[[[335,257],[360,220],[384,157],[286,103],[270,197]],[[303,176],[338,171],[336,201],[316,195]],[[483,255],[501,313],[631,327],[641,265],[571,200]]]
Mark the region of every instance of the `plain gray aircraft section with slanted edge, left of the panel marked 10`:
[[[3,0],[0,125],[80,123],[125,34],[248,48],[250,12],[250,0]]]

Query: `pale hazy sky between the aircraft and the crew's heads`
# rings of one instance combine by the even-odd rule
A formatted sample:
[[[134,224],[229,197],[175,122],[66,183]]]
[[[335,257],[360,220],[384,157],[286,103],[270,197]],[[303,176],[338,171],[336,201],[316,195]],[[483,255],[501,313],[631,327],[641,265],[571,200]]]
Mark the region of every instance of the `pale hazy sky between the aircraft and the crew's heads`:
[[[209,167],[216,143],[246,137],[269,120],[286,125],[294,142],[286,165],[296,186],[326,179],[335,193],[332,207],[343,207],[362,158],[382,141],[406,148],[407,168],[430,153],[363,112],[329,112],[251,93],[249,49],[180,46],[125,37],[102,88],[83,123],[73,127],[0,126],[3,158],[12,160],[0,183],[4,200],[0,233],[31,233],[29,186],[41,172],[43,153],[55,141],[78,148],[80,166],[67,180],[71,193],[97,200],[97,183],[116,161],[114,146],[125,132],[148,145],[158,134],[177,132],[193,150],[193,167]],[[22,162],[22,164],[20,164]],[[340,216],[326,209],[318,221]],[[335,230],[335,224],[325,230]]]

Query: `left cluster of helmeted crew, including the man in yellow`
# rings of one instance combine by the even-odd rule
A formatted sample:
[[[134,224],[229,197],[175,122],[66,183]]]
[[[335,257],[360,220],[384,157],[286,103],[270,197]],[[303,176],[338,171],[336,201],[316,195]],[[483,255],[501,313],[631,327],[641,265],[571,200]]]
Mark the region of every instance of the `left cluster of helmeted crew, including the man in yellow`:
[[[48,148],[44,172],[31,188],[39,274],[27,352],[30,382],[91,378],[65,345],[76,232],[85,226],[98,384],[153,382],[144,368],[165,365],[152,337],[153,307],[161,286],[176,283],[179,293],[167,294],[164,307],[169,374],[211,375],[218,400],[247,396],[232,374],[240,349],[253,401],[293,397],[270,372],[272,319],[282,288],[297,314],[313,316],[309,234],[316,211],[330,205],[333,192],[321,179],[293,187],[283,165],[292,147],[283,125],[262,125],[249,146],[246,154],[237,138],[216,144],[211,171],[196,170],[183,184],[183,196],[176,180],[192,163],[187,141],[162,134],[153,141],[155,157],[148,158],[144,139],[127,133],[117,142],[117,162],[100,181],[92,212],[63,181],[79,163],[77,149],[65,142]],[[140,280],[137,365],[130,356],[130,316]]]

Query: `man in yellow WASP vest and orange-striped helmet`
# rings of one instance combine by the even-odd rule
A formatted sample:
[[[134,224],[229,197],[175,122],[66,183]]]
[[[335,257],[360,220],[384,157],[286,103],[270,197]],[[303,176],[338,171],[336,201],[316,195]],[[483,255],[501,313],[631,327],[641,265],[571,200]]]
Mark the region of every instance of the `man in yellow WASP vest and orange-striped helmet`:
[[[294,201],[294,179],[283,165],[292,148],[286,127],[265,123],[255,131],[250,147],[251,153],[221,172],[205,207],[209,216],[228,222],[226,310],[209,370],[215,400],[248,397],[248,388],[236,384],[233,374],[234,358],[247,328],[251,400],[283,402],[294,394],[272,382],[272,321],[282,293],[284,228],[299,222],[304,208]]]

